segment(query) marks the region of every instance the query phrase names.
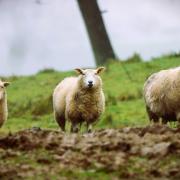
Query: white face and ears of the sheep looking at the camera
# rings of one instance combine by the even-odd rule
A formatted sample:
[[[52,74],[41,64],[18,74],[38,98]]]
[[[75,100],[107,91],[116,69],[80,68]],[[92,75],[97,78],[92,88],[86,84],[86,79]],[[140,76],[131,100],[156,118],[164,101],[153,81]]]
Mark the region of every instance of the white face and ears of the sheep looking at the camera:
[[[97,69],[75,69],[79,74],[79,82],[80,86],[83,89],[96,89],[101,87],[102,80],[99,74],[104,70],[104,67],[100,67]]]

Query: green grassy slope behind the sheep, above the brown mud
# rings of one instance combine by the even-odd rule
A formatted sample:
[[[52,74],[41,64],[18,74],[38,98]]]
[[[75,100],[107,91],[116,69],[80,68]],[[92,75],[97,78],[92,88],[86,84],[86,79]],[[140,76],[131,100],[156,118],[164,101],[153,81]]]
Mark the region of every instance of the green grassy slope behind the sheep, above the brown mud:
[[[148,119],[142,87],[153,72],[180,65],[180,57],[161,57],[150,62],[110,62],[102,75],[106,111],[95,128],[144,126]],[[128,78],[126,71],[130,74]],[[53,120],[52,92],[71,72],[44,70],[32,76],[8,77],[9,118],[1,132],[18,131],[34,126],[58,129]]]

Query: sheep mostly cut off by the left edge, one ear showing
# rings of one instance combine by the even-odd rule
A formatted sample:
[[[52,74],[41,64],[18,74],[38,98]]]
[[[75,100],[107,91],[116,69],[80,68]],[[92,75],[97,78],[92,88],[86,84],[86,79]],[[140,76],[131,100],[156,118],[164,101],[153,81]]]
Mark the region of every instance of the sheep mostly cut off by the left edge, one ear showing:
[[[9,85],[9,82],[3,82],[0,80],[0,127],[7,120],[8,108],[7,108],[7,95],[5,88]]]

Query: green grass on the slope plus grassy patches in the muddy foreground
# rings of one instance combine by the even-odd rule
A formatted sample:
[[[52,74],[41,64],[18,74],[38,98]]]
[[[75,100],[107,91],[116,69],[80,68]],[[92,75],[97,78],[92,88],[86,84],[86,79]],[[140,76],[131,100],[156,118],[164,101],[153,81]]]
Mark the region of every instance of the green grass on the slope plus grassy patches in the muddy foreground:
[[[95,128],[121,128],[125,126],[146,126],[149,124],[142,97],[142,88],[145,80],[154,72],[179,65],[180,57],[168,56],[157,58],[150,62],[110,62],[107,64],[107,71],[102,74],[106,96],[106,111]],[[125,69],[131,79],[128,78]],[[7,88],[9,118],[0,129],[0,134],[32,127],[59,129],[53,118],[52,92],[62,79],[72,75],[76,75],[75,72],[44,70],[32,76],[6,77],[5,79],[11,82],[11,85]],[[29,154],[21,152],[17,157],[6,157],[3,163],[10,166],[28,164],[35,169],[46,167],[46,164],[43,165],[37,162],[36,158],[39,156],[40,158],[51,158],[52,155],[44,149],[36,150]],[[169,161],[167,158],[158,165],[166,170]],[[176,161],[177,158],[175,157],[172,161],[172,167],[173,162]],[[143,168],[140,168],[139,164]],[[56,179],[57,175],[71,179],[113,179],[113,177],[126,173],[127,170],[128,172],[143,174],[148,169],[144,164],[146,164],[146,159],[143,157],[132,158],[127,166],[128,169],[121,168],[121,171],[113,173],[103,170],[86,171],[78,169],[62,171],[57,169],[58,163],[55,161],[48,165],[55,169],[54,174],[50,174],[51,179]],[[44,179],[44,176],[44,174],[38,175],[39,179]]]

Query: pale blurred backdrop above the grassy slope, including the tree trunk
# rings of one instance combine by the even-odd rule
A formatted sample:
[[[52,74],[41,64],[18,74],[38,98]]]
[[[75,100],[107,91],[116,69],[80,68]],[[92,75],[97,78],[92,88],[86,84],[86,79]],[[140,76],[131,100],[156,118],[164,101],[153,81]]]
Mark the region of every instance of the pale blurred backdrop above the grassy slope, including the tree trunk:
[[[0,0],[0,75],[179,52],[179,0],[91,2]]]

